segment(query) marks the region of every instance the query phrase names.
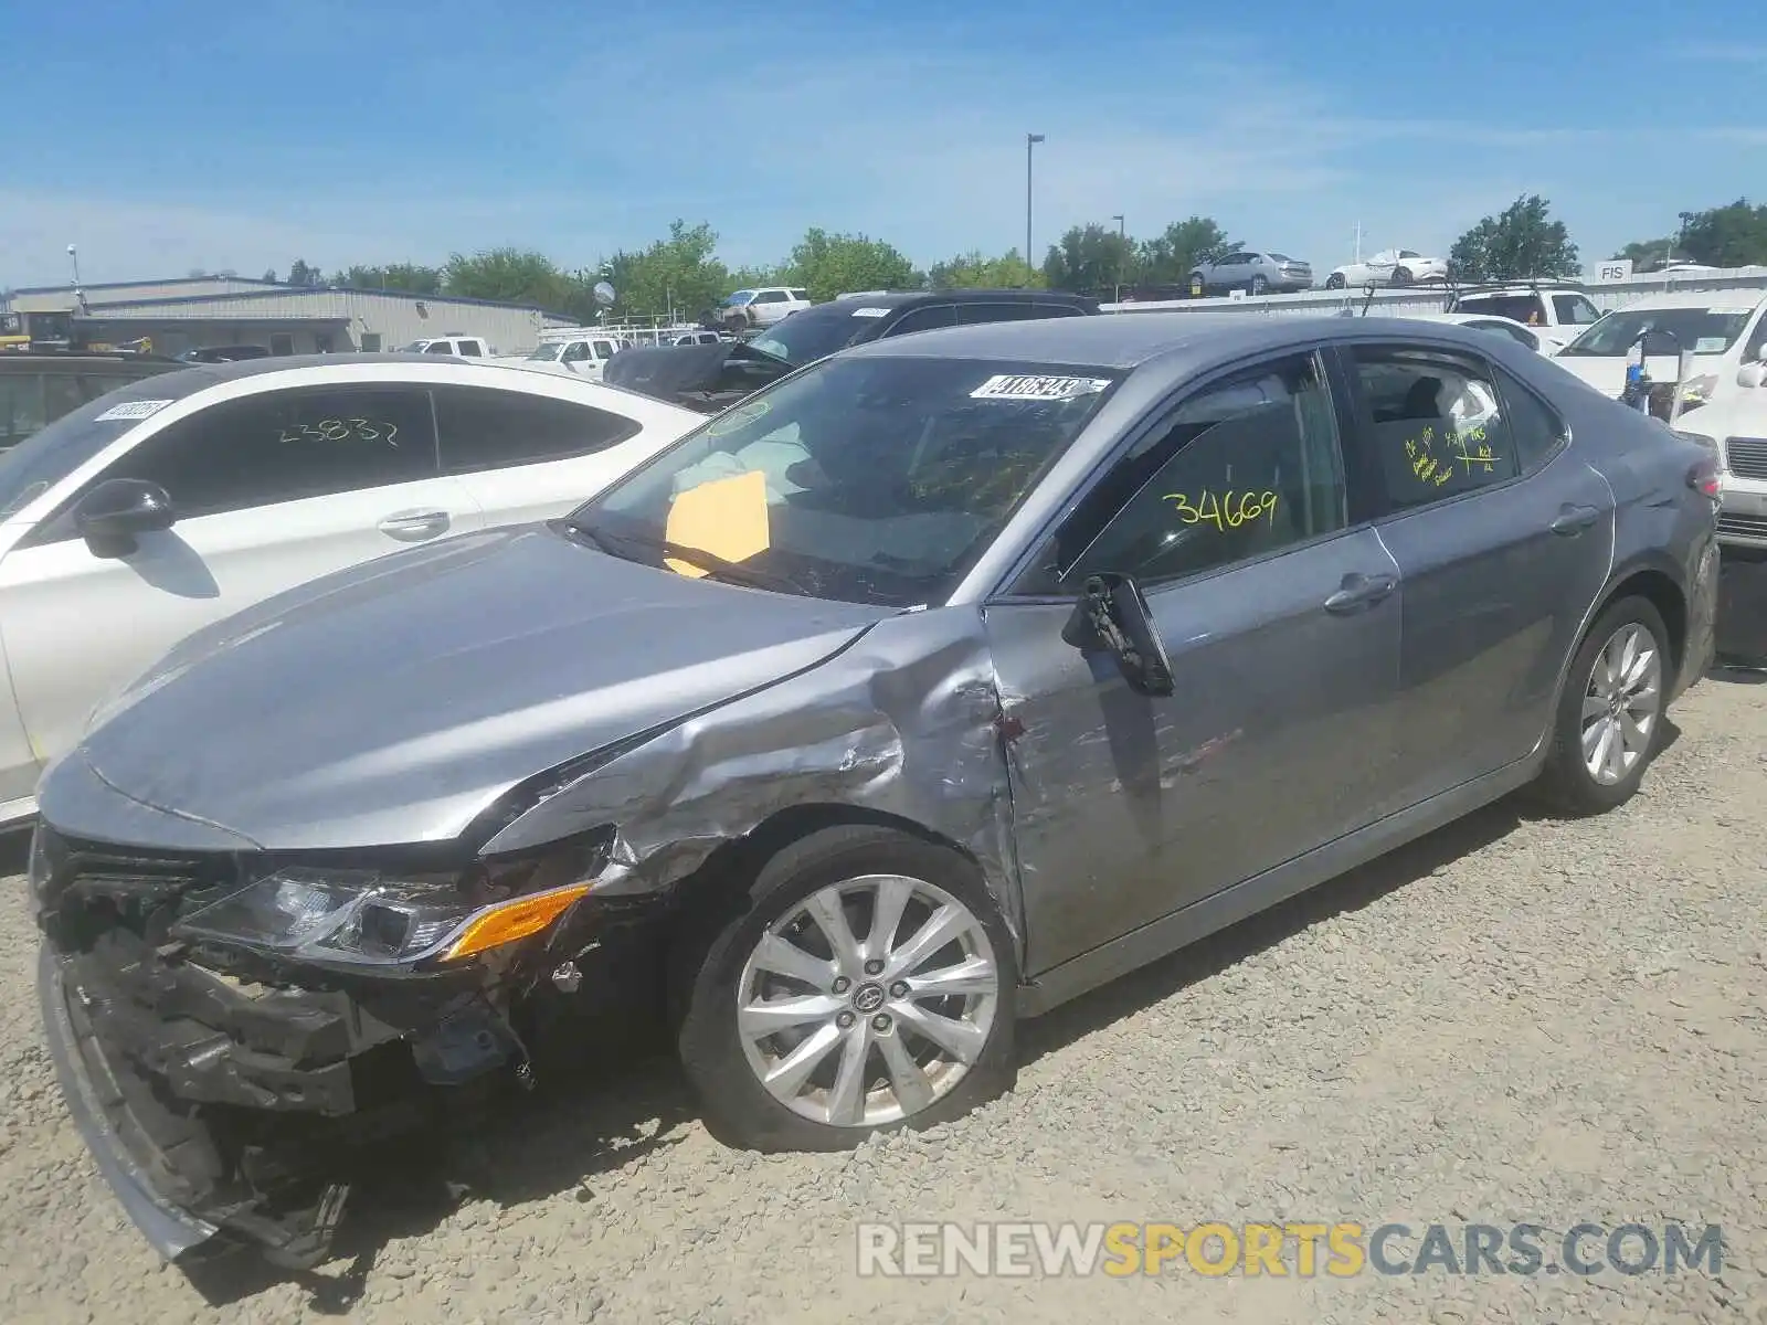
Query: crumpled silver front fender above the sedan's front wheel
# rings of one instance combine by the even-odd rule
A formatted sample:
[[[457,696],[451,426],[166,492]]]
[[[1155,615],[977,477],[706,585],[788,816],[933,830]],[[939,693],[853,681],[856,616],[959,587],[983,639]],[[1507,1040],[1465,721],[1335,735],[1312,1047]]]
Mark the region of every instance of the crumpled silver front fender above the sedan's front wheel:
[[[905,613],[809,671],[594,765],[482,850],[528,852],[611,825],[595,894],[657,894],[785,809],[875,811],[967,852],[1023,949],[998,717],[981,610]]]

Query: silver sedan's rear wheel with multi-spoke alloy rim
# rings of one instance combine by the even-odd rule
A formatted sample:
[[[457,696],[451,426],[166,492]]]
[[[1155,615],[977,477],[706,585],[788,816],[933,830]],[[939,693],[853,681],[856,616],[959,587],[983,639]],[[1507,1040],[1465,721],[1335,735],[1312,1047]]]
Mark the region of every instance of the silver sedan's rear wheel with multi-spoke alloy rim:
[[[1673,657],[1649,599],[1606,608],[1571,661],[1537,791],[1566,814],[1599,814],[1638,791],[1656,756]]]

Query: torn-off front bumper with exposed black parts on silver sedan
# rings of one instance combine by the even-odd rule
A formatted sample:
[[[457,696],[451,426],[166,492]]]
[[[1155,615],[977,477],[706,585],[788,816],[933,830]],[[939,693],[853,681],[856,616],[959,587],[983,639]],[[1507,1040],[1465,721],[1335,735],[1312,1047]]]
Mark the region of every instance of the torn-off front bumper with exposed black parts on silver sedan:
[[[32,864],[39,1000],[62,1094],[99,1173],[168,1261],[254,1247],[315,1265],[369,1154],[481,1118],[532,1079],[482,968],[408,979],[228,968],[159,942],[152,924],[113,920],[120,890],[163,878],[113,871],[104,889],[64,887],[46,905],[55,889]]]

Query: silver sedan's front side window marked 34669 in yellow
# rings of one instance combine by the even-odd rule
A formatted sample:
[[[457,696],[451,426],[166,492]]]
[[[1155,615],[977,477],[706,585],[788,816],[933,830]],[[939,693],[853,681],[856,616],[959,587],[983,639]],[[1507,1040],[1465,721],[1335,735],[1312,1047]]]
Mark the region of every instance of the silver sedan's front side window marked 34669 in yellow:
[[[1066,594],[1103,571],[1156,587],[1346,525],[1325,375],[1292,355],[1180,405],[1088,493],[1020,592]]]

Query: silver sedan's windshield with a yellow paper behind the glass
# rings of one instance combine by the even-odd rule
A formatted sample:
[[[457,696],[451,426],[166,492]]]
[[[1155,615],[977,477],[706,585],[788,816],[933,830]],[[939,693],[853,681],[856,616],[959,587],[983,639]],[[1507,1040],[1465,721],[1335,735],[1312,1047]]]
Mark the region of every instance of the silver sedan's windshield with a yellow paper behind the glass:
[[[832,359],[712,419],[569,526],[848,602],[942,602],[1120,373],[974,359]],[[730,565],[735,564],[735,565]]]

